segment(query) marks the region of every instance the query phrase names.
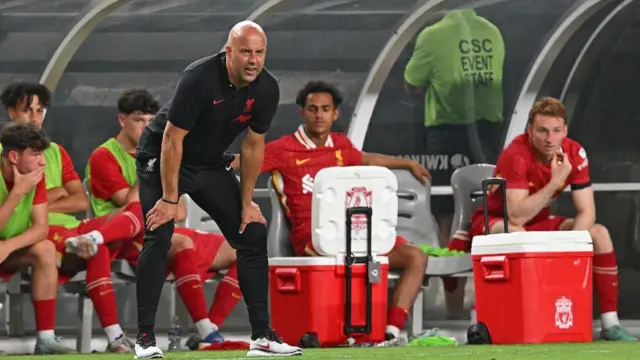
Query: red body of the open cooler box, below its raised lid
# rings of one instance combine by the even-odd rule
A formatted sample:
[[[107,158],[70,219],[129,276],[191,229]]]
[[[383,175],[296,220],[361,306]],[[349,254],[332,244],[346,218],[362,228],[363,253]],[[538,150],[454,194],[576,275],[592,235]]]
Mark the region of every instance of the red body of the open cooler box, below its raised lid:
[[[343,256],[269,258],[271,323],[289,344],[297,345],[306,333],[316,333],[321,347],[347,343],[384,341],[387,324],[389,261],[380,264],[379,282],[371,284],[371,324],[369,334],[345,334],[347,325],[346,269]],[[351,267],[351,325],[366,325],[367,265]]]

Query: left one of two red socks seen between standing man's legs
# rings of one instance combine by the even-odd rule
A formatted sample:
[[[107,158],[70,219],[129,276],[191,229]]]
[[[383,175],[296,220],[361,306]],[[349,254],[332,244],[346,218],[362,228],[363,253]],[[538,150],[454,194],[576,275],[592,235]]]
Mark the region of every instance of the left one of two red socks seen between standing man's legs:
[[[207,300],[195,258],[194,249],[182,250],[174,256],[172,269],[178,294],[194,323],[207,318]]]

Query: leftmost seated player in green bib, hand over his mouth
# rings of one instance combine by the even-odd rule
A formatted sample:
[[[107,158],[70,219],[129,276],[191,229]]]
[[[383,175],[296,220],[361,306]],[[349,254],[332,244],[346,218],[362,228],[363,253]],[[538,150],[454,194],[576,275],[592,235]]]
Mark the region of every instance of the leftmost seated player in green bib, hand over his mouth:
[[[4,102],[6,98],[2,97]],[[45,134],[33,124],[8,124],[0,133],[0,276],[11,278],[31,267],[31,297],[36,319],[35,354],[67,354],[55,336],[58,269],[56,250],[47,239],[47,193],[43,152]]]

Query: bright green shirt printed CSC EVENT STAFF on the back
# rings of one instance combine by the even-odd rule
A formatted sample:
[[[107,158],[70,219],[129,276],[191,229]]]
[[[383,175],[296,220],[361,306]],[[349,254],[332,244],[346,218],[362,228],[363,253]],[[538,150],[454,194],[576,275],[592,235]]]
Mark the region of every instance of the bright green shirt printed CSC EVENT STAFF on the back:
[[[500,29],[473,9],[449,11],[422,30],[404,78],[426,86],[425,126],[501,122],[504,59]]]

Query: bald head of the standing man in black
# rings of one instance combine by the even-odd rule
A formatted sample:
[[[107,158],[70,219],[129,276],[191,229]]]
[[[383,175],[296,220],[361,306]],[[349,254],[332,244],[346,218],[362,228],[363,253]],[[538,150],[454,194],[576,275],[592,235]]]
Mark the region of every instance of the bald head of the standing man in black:
[[[253,21],[239,22],[229,31],[225,52],[229,80],[236,87],[246,86],[264,67],[267,37]]]

